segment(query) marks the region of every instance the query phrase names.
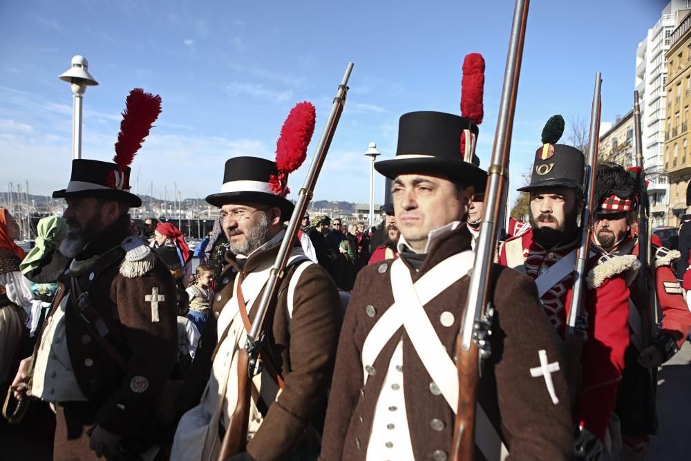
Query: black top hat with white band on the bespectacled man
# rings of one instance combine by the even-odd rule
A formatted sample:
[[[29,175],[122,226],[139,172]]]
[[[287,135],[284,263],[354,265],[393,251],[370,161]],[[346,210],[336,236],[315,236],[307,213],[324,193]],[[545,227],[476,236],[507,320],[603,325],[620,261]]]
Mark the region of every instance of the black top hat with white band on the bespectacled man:
[[[276,163],[265,158],[235,157],[225,162],[223,186],[219,194],[211,194],[207,202],[214,207],[227,203],[265,203],[281,209],[281,219],[288,220],[294,205],[276,194],[272,183],[278,176]]]

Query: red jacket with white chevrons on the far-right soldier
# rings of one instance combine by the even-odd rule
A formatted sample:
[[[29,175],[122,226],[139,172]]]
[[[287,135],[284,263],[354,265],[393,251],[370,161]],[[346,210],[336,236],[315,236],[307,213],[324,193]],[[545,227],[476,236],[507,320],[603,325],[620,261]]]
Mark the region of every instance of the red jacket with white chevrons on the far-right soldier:
[[[593,247],[593,249],[607,254],[600,247]],[[681,348],[691,330],[691,311],[689,311],[683,297],[683,290],[672,269],[672,263],[679,259],[681,253],[661,245],[655,245],[655,242],[652,245],[652,253],[654,254],[655,291],[663,313],[661,334],[671,335],[677,346]],[[616,256],[633,254],[637,257],[638,237],[627,236],[609,254]],[[643,313],[643,309],[648,308],[649,299],[647,299],[647,294],[639,293],[635,283],[632,283],[629,289],[636,309]]]

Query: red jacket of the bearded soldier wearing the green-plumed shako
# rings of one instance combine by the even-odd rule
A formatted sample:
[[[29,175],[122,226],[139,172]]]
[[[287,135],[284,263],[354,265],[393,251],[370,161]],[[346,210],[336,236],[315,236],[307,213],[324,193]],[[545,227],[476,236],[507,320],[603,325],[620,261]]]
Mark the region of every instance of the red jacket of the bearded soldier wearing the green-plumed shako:
[[[507,250],[518,245],[511,242],[517,241],[522,247],[522,268],[511,264],[511,257],[507,256]],[[500,264],[538,279],[575,249],[576,241],[547,250],[533,240],[533,229],[529,229],[521,236],[510,238],[502,246]],[[620,256],[602,262],[594,256],[589,261],[588,289],[584,297],[588,341],[581,356],[582,383],[578,406],[574,408],[574,422],[584,426],[600,440],[605,439],[609,419],[614,413],[616,389],[624,368],[624,352],[629,345],[627,281],[635,275],[636,265],[633,256]],[[549,322],[562,339],[567,330],[573,285],[573,272],[568,272],[540,297]]]

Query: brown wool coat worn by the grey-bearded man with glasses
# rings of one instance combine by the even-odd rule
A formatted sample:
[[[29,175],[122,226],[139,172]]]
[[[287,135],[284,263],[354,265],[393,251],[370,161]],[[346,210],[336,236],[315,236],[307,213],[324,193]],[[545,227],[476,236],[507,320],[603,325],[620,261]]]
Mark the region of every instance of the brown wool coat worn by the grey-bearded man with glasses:
[[[250,256],[242,267],[245,274],[252,272],[264,261],[274,261],[278,246]],[[201,345],[186,382],[186,389],[195,395],[194,402],[187,399],[186,408],[197,404],[209,378],[213,350],[219,339],[216,335],[216,318],[226,303],[234,296],[233,285],[240,271],[234,255],[226,254],[228,265],[218,277],[216,293],[211,304],[214,315],[202,333]],[[287,313],[287,288],[295,267],[289,267],[278,290],[276,313],[271,325],[268,349],[273,363],[281,374],[284,388],[276,402],[247,444],[247,451],[256,460],[285,460],[303,439],[307,425],[321,427],[331,382],[336,348],[341,330],[341,301],[328,273],[313,264],[302,273],[293,298],[293,315]],[[249,319],[254,321],[261,294],[249,309]],[[200,380],[195,375],[202,375]],[[201,383],[203,381],[203,384]],[[194,389],[196,386],[196,389]]]

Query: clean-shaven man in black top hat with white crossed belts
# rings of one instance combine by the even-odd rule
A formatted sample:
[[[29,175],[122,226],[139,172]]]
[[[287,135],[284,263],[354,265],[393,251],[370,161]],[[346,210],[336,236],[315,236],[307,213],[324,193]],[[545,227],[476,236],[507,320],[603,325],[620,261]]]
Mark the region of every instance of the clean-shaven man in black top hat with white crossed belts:
[[[471,133],[477,126],[457,115],[406,113],[395,158],[375,164],[394,182],[399,258],[358,275],[341,330],[322,460],[448,458],[459,385],[453,351],[474,260],[464,220],[486,182],[484,171],[463,160],[461,141]],[[508,446],[516,459],[566,460],[566,382],[534,284],[498,265],[491,270],[501,287],[491,290],[496,353],[479,384],[477,419],[486,424],[477,424],[475,459],[499,459]]]

